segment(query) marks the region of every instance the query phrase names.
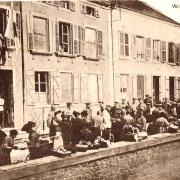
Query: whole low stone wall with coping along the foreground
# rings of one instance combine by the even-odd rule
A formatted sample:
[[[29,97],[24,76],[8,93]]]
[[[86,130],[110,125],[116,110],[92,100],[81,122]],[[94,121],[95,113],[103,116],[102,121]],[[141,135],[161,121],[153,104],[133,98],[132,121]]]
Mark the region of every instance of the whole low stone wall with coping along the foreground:
[[[141,142],[54,156],[0,167],[0,179],[179,180],[180,134],[158,134]]]

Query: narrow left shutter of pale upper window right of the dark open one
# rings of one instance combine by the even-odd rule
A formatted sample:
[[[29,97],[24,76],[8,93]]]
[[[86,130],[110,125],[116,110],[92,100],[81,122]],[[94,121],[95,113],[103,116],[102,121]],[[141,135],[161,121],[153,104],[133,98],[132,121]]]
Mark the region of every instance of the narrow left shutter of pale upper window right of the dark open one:
[[[78,36],[80,40],[79,54],[84,56],[85,55],[85,29],[83,27],[78,26]]]

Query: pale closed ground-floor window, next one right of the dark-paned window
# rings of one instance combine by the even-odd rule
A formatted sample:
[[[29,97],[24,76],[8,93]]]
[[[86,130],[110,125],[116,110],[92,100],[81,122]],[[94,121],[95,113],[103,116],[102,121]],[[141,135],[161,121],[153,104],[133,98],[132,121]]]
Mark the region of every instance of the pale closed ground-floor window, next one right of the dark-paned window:
[[[73,82],[71,73],[60,73],[61,79],[61,102],[72,102]]]

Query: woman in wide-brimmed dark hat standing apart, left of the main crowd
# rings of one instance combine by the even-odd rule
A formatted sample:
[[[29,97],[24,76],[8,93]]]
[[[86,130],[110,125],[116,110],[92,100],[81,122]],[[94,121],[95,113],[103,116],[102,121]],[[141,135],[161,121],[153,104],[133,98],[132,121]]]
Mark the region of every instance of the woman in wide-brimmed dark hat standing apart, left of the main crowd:
[[[30,159],[37,159],[42,157],[40,153],[40,143],[39,143],[39,137],[40,135],[35,131],[36,123],[33,121],[29,121],[26,123],[22,131],[26,131],[29,134],[27,144],[29,146],[29,152],[30,152]]]

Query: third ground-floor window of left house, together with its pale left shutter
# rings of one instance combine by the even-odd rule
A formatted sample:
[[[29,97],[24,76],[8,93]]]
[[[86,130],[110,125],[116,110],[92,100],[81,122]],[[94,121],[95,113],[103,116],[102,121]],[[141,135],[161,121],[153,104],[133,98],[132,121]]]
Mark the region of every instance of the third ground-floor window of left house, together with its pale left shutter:
[[[96,74],[81,75],[81,101],[98,102],[98,88]]]

